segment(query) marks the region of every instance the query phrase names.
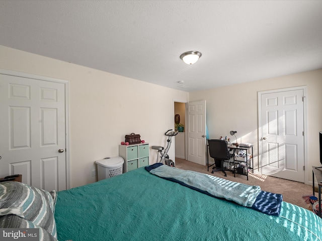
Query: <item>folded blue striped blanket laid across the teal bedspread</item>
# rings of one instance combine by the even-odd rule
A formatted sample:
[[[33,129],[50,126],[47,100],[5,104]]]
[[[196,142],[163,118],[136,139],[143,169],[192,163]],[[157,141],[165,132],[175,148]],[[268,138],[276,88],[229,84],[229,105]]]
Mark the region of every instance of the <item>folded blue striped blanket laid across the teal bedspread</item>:
[[[232,182],[212,175],[155,163],[145,167],[151,174],[177,182],[212,197],[233,201],[257,211],[278,216],[283,196],[262,191],[260,186]]]

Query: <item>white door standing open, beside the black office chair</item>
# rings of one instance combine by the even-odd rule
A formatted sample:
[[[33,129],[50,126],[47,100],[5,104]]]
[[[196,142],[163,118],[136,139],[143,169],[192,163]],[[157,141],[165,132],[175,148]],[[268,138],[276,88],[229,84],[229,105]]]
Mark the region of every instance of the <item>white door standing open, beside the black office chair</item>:
[[[206,165],[206,100],[187,104],[187,160]]]

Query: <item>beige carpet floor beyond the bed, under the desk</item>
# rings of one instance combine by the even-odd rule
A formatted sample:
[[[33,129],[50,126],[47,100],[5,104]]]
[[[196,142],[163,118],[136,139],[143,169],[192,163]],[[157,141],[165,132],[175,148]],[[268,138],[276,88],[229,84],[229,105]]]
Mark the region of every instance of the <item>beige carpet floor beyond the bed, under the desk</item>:
[[[255,175],[249,173],[249,180],[247,176],[238,175],[233,177],[233,173],[227,171],[227,177],[224,177],[224,174],[221,171],[214,172],[211,174],[212,167],[207,171],[207,166],[199,165],[193,162],[189,162],[183,159],[176,158],[176,167],[184,170],[191,170],[201,173],[206,173],[216,177],[224,178],[234,182],[245,183],[249,185],[258,185],[263,191],[273,192],[283,195],[283,201],[295,204],[300,207],[310,209],[309,204],[306,204],[303,195],[312,195],[312,186],[306,185],[300,182],[289,181],[281,178],[270,177],[266,175]],[[315,194],[317,197],[317,194]]]

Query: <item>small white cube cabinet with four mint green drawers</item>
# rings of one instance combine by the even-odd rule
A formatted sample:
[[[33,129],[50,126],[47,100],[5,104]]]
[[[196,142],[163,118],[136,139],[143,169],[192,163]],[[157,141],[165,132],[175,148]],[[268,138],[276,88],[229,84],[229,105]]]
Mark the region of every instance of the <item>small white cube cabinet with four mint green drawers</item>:
[[[119,145],[119,156],[124,159],[123,173],[149,165],[149,144]]]

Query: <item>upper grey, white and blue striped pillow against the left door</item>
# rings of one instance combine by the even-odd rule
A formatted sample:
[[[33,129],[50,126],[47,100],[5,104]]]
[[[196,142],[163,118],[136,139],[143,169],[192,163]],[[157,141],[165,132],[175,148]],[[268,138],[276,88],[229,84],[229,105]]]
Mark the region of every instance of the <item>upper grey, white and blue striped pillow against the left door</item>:
[[[0,184],[0,208],[13,207],[22,207],[26,220],[57,237],[54,200],[49,192],[21,182],[3,182]]]

